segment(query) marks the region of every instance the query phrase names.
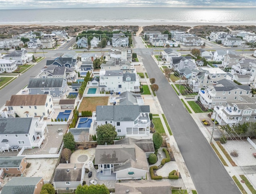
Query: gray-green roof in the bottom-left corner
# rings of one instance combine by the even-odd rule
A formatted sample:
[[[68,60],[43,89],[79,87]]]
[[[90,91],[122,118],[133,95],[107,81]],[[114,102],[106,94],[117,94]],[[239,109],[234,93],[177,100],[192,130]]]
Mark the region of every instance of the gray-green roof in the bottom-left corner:
[[[14,177],[2,188],[1,194],[34,194],[42,177]]]

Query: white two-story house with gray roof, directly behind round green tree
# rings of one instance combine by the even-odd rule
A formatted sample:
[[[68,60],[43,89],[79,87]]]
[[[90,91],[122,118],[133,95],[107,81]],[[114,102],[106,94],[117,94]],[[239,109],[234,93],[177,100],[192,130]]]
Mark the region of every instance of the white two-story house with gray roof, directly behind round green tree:
[[[97,125],[110,123],[117,136],[149,136],[150,107],[148,105],[97,106]]]

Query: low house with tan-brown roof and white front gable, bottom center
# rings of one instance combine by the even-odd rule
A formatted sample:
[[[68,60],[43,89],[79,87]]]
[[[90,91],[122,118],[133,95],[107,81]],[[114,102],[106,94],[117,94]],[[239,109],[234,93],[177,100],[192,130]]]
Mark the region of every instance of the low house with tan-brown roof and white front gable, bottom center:
[[[154,153],[152,140],[125,138],[114,145],[98,145],[95,150],[100,180],[136,180],[146,177],[148,156]]]

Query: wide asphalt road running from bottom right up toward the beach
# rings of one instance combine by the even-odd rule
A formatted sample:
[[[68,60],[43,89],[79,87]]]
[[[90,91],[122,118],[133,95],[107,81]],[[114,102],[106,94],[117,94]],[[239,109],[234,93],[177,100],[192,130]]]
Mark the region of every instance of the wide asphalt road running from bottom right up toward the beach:
[[[140,53],[142,62],[148,76],[155,78],[159,86],[156,95],[198,194],[240,194],[240,190],[149,53]]]

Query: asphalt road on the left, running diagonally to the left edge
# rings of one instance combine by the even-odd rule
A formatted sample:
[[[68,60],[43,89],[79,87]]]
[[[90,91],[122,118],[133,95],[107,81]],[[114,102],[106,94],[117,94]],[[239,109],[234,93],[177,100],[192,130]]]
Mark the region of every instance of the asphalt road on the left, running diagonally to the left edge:
[[[35,77],[39,74],[40,70],[45,66],[46,60],[51,60],[49,58],[44,58],[38,64],[34,65],[24,74],[21,74],[18,78],[13,80],[10,84],[0,90],[0,107],[4,106],[6,100],[10,100],[12,95],[17,94],[22,88],[24,88],[30,78]]]

